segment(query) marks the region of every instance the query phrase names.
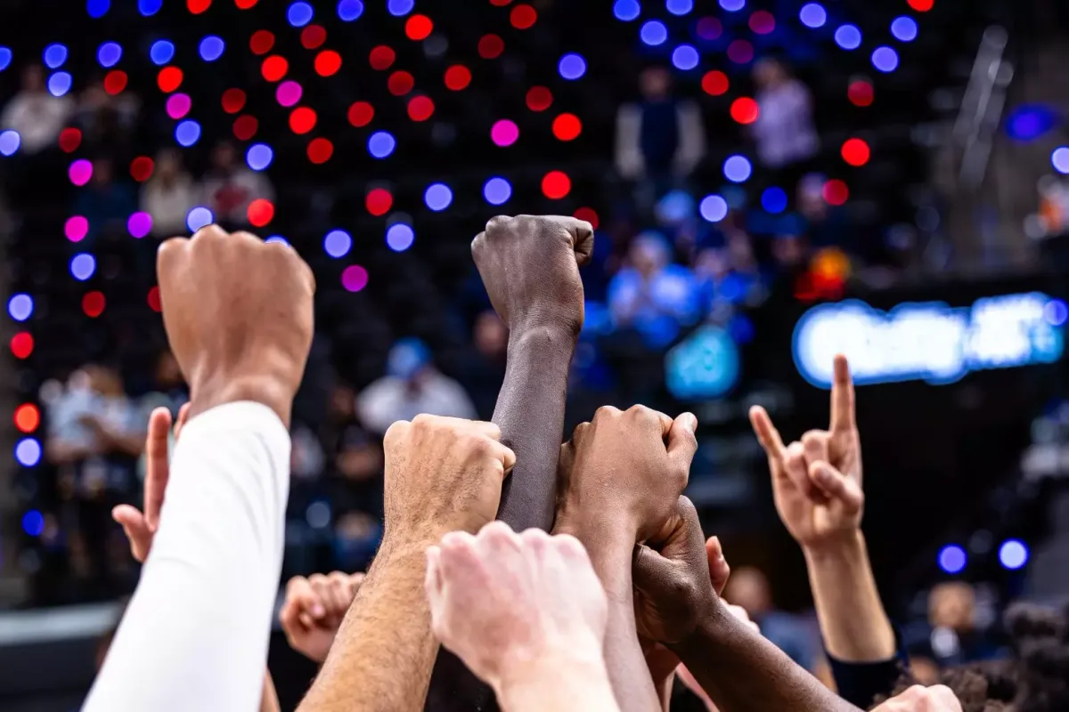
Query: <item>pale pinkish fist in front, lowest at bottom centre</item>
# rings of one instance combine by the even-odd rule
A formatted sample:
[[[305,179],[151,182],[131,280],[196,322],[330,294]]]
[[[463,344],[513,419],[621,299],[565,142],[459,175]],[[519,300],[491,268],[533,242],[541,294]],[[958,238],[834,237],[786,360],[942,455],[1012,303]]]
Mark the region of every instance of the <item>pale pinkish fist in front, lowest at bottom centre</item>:
[[[608,603],[573,537],[493,522],[447,534],[427,564],[434,634],[498,693],[517,676],[602,660]]]

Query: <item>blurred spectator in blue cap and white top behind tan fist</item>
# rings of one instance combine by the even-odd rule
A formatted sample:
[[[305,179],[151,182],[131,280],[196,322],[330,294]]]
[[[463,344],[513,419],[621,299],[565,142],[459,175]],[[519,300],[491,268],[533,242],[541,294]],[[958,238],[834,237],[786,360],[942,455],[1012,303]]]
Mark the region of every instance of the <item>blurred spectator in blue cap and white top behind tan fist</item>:
[[[387,375],[361,391],[356,404],[360,422],[378,434],[420,413],[476,417],[464,386],[434,367],[431,349],[418,338],[402,338],[390,348]]]

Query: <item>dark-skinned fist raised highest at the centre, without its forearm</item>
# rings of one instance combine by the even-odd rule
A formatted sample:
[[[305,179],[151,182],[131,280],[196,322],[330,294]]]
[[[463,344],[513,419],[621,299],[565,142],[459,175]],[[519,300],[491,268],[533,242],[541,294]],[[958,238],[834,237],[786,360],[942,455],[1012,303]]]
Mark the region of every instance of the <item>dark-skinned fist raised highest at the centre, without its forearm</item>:
[[[593,252],[590,223],[558,216],[498,216],[471,242],[479,275],[498,316],[513,333],[583,328],[578,267]]]

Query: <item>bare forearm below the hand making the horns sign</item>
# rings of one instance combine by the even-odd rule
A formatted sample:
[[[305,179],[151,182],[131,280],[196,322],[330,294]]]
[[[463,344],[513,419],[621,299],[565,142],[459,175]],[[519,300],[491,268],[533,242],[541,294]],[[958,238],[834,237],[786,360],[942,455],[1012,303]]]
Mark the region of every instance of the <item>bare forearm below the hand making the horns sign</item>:
[[[895,631],[880,601],[862,533],[804,552],[827,652],[846,663],[894,658]]]

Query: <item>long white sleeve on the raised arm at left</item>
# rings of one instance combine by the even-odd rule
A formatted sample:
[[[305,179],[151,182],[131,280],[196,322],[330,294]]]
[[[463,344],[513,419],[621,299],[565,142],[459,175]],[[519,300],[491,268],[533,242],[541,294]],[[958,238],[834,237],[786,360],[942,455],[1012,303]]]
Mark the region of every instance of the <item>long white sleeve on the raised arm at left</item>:
[[[253,712],[282,566],[290,433],[255,402],[182,430],[159,531],[83,712]]]

